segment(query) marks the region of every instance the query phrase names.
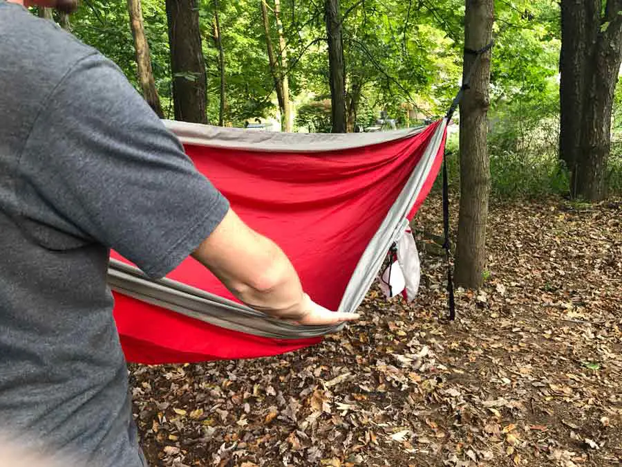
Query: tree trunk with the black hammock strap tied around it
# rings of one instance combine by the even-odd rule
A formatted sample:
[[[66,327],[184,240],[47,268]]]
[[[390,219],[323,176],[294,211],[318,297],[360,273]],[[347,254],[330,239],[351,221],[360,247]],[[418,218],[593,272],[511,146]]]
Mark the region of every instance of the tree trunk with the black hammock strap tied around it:
[[[466,0],[464,46],[478,50],[491,41],[493,0]],[[464,53],[463,79],[475,62]],[[460,104],[460,217],[455,258],[455,282],[477,288],[482,285],[486,263],[486,222],[490,191],[487,150],[490,52],[480,57],[471,76],[471,88]]]

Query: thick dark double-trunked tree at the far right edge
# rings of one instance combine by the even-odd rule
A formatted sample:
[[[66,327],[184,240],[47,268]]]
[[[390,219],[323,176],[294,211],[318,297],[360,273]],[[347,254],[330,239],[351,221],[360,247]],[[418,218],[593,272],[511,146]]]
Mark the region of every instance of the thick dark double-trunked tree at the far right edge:
[[[606,196],[612,101],[622,60],[622,0],[562,0],[560,158],[570,192]]]

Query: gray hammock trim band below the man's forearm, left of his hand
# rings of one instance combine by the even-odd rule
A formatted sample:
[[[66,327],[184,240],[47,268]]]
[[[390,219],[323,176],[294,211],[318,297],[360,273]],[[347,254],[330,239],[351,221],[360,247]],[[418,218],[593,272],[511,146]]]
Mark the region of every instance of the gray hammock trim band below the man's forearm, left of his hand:
[[[305,339],[340,331],[343,324],[301,326],[272,318],[233,300],[162,278],[151,280],[139,268],[110,260],[108,284],[114,291],[218,327],[254,336]]]

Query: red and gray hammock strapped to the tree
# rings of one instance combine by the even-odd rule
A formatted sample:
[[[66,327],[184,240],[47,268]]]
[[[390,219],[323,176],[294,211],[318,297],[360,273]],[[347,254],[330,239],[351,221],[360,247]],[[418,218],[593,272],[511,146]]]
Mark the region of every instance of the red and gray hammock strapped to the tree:
[[[165,125],[238,215],[283,248],[314,301],[355,311],[431,190],[446,122],[364,134]],[[109,285],[131,362],[272,356],[343,327],[297,326],[249,309],[191,258],[150,280],[113,252]]]

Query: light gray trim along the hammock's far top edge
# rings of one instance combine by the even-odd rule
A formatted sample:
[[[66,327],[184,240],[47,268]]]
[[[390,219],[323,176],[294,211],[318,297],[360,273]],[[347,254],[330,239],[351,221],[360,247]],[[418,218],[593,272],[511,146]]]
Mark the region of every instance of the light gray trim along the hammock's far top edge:
[[[426,126],[372,133],[283,133],[214,127],[199,123],[162,120],[185,145],[222,147],[256,152],[323,152],[366,147],[420,134]]]

